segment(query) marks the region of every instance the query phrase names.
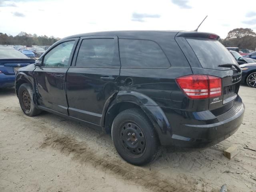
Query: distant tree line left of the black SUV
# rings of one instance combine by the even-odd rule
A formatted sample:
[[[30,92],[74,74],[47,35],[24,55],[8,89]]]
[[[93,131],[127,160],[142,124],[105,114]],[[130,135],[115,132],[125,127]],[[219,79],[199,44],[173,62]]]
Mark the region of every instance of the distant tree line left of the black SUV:
[[[36,34],[27,34],[26,32],[20,32],[16,36],[0,33],[0,45],[46,45],[50,46],[58,41],[60,38],[53,36],[37,36]]]

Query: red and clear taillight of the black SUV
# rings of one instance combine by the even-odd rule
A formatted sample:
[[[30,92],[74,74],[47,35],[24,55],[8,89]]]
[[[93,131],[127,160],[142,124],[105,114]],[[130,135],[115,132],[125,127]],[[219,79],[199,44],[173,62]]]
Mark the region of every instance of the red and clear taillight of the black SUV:
[[[179,77],[176,82],[191,99],[206,99],[221,96],[221,78],[210,75],[188,75]]]

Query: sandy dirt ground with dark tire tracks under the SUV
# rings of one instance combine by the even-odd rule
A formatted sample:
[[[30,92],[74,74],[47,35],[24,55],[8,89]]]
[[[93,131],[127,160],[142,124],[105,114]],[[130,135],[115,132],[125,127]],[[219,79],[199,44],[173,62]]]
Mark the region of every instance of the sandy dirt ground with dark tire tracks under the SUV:
[[[28,117],[14,88],[0,90],[0,192],[256,192],[256,89],[240,87],[244,122],[201,151],[165,149],[143,167],[118,156],[109,135],[43,112]],[[237,144],[231,160],[223,150]]]

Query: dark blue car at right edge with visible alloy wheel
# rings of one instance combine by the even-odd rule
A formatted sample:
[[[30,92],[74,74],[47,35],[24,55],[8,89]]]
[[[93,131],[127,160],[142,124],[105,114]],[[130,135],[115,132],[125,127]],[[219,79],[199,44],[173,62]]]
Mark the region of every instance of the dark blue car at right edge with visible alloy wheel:
[[[256,88],[256,63],[240,65],[242,69],[242,82],[249,87]]]

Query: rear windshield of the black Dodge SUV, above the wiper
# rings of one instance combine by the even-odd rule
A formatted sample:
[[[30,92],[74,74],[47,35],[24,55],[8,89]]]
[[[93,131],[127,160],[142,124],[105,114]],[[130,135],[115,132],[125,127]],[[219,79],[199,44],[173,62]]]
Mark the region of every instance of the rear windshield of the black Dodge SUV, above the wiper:
[[[221,64],[237,64],[235,58],[218,40],[186,38],[203,68],[227,70]]]

